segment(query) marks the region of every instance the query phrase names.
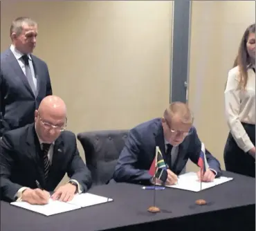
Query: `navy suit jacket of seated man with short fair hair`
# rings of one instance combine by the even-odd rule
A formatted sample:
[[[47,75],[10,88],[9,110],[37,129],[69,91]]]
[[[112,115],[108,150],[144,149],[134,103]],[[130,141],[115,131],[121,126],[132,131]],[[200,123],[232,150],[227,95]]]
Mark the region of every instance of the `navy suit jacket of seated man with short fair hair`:
[[[149,120],[131,129],[125,147],[118,159],[113,179],[116,182],[148,185],[152,178],[149,175],[149,168],[156,155],[156,146],[161,149],[165,163],[167,163],[164,140],[160,118]],[[179,154],[171,169],[172,172],[179,175],[188,159],[197,165],[200,152],[201,141],[197,136],[196,129],[192,127],[192,133],[179,145]],[[205,155],[209,167],[217,172],[217,177],[220,176],[219,161],[206,149]]]

